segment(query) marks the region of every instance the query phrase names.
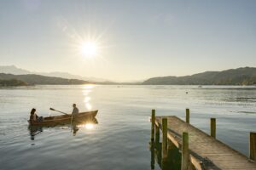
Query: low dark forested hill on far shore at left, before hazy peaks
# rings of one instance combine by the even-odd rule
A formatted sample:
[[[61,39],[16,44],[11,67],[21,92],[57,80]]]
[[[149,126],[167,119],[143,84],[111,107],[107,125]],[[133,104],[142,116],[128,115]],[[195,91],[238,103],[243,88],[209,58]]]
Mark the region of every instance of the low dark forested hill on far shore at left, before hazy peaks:
[[[44,77],[40,75],[34,75],[34,74],[28,74],[28,75],[13,75],[13,74],[5,74],[5,73],[0,73],[0,81],[5,83],[8,81],[11,83],[12,81],[10,80],[16,80],[16,82],[24,82],[20,84],[28,84],[28,85],[35,85],[35,84],[87,84],[90,82],[84,81],[84,80],[78,80],[78,79],[67,79],[67,78],[60,78],[60,77]],[[15,81],[13,81],[15,82]],[[15,82],[15,84],[17,84]],[[11,84],[2,84],[9,86]],[[1,84],[0,84],[1,85]]]

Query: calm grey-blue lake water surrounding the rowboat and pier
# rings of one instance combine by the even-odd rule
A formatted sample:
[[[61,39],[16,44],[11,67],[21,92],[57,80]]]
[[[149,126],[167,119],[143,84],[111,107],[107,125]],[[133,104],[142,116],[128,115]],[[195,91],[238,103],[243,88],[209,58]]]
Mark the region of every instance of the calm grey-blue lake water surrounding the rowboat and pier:
[[[188,92],[188,94],[186,94]],[[99,110],[99,124],[49,127],[31,139],[26,122],[32,107],[49,111]],[[184,117],[209,132],[217,118],[217,138],[248,155],[248,134],[256,131],[256,87],[207,86],[36,86],[0,89],[0,169],[150,169],[151,109]],[[155,164],[155,169],[160,167]]]

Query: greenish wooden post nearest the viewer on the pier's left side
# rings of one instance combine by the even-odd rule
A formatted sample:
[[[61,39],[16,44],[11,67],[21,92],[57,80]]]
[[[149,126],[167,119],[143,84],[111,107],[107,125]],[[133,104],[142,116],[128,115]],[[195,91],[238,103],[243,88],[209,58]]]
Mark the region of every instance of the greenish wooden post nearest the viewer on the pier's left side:
[[[183,132],[182,145],[182,170],[187,170],[189,167],[189,133]]]

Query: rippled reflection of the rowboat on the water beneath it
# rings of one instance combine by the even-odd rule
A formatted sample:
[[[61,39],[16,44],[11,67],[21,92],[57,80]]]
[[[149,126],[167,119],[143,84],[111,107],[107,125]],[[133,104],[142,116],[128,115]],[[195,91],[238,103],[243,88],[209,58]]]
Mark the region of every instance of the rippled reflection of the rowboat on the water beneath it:
[[[73,136],[75,136],[78,133],[79,128],[92,129],[96,124],[98,124],[97,119],[95,117],[89,117],[88,119],[85,119],[83,121],[73,121],[70,123],[59,124],[50,127],[60,127],[61,129],[67,129],[68,127],[71,127],[71,132],[73,132]],[[36,135],[43,132],[44,128],[49,128],[49,126],[29,125],[28,130],[31,139],[34,140]]]

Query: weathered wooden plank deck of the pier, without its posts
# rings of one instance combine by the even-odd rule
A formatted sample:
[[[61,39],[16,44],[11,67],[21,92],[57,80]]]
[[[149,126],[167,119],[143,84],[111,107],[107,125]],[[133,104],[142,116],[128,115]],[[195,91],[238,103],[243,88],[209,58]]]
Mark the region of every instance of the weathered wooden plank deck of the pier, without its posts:
[[[182,150],[182,134],[189,133],[189,158],[197,169],[255,169],[256,163],[250,161],[230,146],[212,138],[207,133],[183,122],[177,116],[162,116],[167,118],[168,139]],[[161,129],[161,116],[155,117],[156,126]]]

